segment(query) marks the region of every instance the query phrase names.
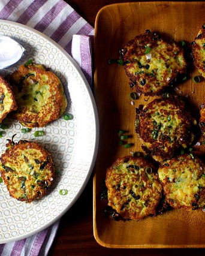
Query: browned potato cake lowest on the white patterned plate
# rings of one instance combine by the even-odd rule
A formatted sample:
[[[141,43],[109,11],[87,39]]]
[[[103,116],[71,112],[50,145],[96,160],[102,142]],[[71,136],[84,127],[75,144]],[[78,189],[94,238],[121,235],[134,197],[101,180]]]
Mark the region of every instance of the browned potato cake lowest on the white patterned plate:
[[[12,139],[6,146],[0,173],[10,196],[27,202],[43,197],[55,177],[50,153],[34,141]]]

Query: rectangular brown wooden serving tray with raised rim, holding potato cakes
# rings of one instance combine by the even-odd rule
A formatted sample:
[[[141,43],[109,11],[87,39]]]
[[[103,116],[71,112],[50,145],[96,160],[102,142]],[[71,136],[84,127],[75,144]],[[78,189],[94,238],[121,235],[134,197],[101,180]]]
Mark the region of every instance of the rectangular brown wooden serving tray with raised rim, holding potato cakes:
[[[100,119],[100,145],[94,173],[94,236],[100,245],[110,248],[204,248],[205,213],[202,210],[171,210],[141,221],[113,221],[104,214],[107,201],[101,200],[105,173],[118,157],[142,151],[134,131],[135,108],[151,97],[140,97],[131,104],[128,78],[123,67],[108,64],[119,58],[119,50],[129,40],[145,31],[158,31],[165,37],[188,46],[205,23],[204,2],[132,2],[102,8],[95,23],[95,99]],[[190,78],[176,85],[176,94],[189,101],[198,120],[205,104],[205,82],[195,83],[199,75],[189,62]],[[119,129],[125,129],[134,146],[119,146]],[[201,138],[199,138],[201,141]],[[204,145],[194,146],[194,153],[205,155]]]

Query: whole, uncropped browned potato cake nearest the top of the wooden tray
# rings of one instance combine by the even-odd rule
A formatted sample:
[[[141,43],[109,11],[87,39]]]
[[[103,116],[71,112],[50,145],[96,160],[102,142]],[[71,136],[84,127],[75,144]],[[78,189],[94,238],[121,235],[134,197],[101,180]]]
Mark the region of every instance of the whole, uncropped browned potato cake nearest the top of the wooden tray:
[[[183,48],[148,29],[129,41],[121,54],[131,88],[135,86],[144,95],[160,94],[186,73]]]

